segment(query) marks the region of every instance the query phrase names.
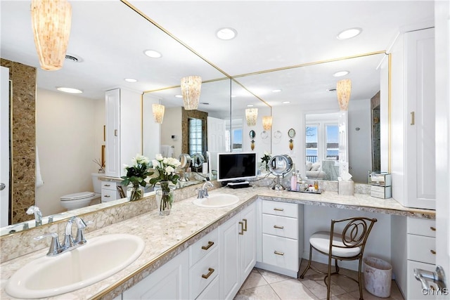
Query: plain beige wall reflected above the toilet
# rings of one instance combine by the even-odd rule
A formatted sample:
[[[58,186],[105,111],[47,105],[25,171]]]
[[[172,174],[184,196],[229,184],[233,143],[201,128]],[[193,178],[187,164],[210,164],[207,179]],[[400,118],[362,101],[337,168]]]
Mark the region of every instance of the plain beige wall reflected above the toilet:
[[[37,90],[36,144],[44,185],[36,204],[44,216],[64,211],[59,198],[93,191],[93,159],[101,159],[105,100]]]

